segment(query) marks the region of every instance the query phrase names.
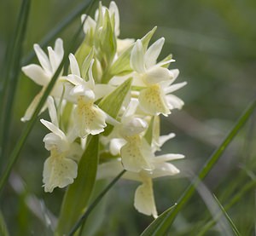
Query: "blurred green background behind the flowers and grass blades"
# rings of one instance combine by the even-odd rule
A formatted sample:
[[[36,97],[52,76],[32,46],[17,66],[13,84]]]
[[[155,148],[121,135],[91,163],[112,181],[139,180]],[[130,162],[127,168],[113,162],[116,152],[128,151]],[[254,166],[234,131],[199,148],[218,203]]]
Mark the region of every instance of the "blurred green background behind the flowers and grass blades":
[[[33,0],[24,58],[32,50],[33,43],[40,42],[82,2]],[[5,49],[14,33],[20,3],[0,1],[0,65],[3,65]],[[108,6],[109,1],[102,3]],[[176,93],[185,102],[183,110],[172,112],[169,118],[162,117],[162,134],[177,134],[163,147],[163,153],[183,153],[186,156],[183,161],[175,162],[181,169],[179,176],[154,181],[156,204],[162,212],[177,201],[191,176],[197,173],[255,96],[256,1],[120,0],[116,3],[120,14],[120,37],[140,38],[158,26],[152,42],[159,37],[166,38],[160,58],[172,53],[177,61],[170,68],[180,70],[177,82],[188,82]],[[94,10],[90,15],[94,15]],[[70,43],[79,25],[80,20],[75,20],[61,32],[58,37],[63,38],[64,45]],[[37,60],[34,62],[38,63]],[[24,127],[20,117],[38,90],[37,85],[20,74],[10,150]],[[255,116],[205,181],[223,204],[254,179],[254,121]],[[42,188],[43,164],[49,154],[42,141],[45,134],[46,129],[38,122],[1,199],[11,235],[50,235],[50,226],[46,227],[48,217],[51,218],[51,213],[57,216],[59,212],[63,190],[55,189],[49,194]],[[131,181],[119,181],[108,193],[105,207],[102,204],[105,208],[102,222],[98,219],[89,225],[91,229],[97,227],[95,235],[138,235],[148,226],[153,218],[140,215],[133,208],[137,185]],[[170,235],[197,235],[211,218],[210,211],[205,199],[196,193],[177,217]],[[228,210],[241,235],[254,235],[255,212],[254,189]],[[220,233],[217,227],[213,227],[205,235]]]

